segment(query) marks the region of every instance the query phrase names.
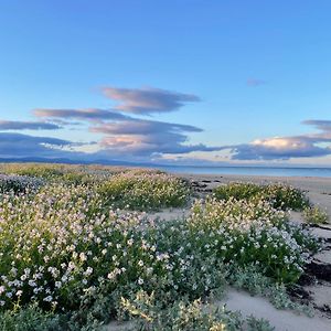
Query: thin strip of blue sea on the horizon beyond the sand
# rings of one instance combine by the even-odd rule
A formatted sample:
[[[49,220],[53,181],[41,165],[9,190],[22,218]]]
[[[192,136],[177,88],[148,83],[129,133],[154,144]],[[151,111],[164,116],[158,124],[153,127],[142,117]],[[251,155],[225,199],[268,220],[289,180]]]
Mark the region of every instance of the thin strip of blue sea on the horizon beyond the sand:
[[[252,174],[275,177],[322,177],[331,178],[331,168],[274,168],[274,167],[186,167],[159,166],[153,167],[172,173],[200,174]]]

